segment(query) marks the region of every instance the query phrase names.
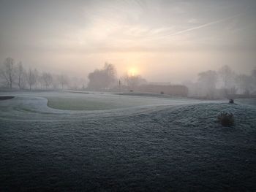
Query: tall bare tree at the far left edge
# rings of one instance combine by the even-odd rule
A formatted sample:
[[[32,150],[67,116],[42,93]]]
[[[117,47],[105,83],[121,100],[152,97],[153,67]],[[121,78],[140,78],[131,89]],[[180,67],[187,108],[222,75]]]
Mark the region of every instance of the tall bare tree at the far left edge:
[[[15,70],[15,64],[14,64],[13,58],[6,58],[3,66],[1,67],[0,75],[1,77],[4,78],[7,86],[10,89],[12,89],[12,84],[15,79],[15,74],[16,74],[16,70]]]

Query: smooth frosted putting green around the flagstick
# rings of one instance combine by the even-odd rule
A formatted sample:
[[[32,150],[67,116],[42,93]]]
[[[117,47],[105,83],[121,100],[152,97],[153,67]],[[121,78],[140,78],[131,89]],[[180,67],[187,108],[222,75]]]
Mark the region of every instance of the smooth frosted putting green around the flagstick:
[[[45,98],[48,99],[48,107],[58,110],[112,110],[154,104],[195,103],[192,99],[140,93],[134,93],[132,96],[118,96],[110,93],[63,93],[57,96],[45,96]]]

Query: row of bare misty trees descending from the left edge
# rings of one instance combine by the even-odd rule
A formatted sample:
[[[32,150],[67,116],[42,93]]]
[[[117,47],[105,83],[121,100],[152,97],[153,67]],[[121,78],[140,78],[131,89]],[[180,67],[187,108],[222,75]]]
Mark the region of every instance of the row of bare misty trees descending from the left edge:
[[[69,77],[67,74],[39,72],[37,69],[26,69],[21,62],[6,58],[0,66],[1,88],[29,89],[79,89],[85,88],[85,80]]]

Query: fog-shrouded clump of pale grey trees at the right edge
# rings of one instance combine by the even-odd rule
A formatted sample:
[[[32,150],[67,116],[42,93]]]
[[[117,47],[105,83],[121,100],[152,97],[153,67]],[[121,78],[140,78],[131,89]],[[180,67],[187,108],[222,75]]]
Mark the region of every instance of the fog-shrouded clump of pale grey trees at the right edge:
[[[189,96],[207,99],[232,96],[256,95],[256,68],[250,74],[237,74],[230,66],[222,66],[217,71],[208,70],[198,74],[197,82],[184,82],[189,88]]]

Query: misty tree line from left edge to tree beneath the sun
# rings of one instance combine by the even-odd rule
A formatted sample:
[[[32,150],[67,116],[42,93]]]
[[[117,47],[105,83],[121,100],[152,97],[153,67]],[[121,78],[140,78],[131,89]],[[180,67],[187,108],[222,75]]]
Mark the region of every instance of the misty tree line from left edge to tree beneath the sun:
[[[116,67],[105,63],[102,69],[95,69],[86,80],[78,77],[69,77],[67,74],[52,74],[39,72],[37,69],[26,69],[21,62],[15,63],[13,58],[6,58],[0,66],[0,87],[15,89],[72,89],[87,91],[118,91],[135,89],[145,84],[146,80],[140,75],[128,74],[118,79]]]

